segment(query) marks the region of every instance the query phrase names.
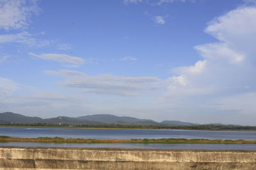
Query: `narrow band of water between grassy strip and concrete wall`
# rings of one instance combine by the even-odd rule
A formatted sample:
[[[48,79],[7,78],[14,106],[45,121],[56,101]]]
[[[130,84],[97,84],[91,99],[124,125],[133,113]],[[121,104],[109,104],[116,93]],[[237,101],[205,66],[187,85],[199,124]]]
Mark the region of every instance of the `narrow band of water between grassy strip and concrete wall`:
[[[0,146],[43,146],[43,147],[79,147],[79,148],[161,148],[161,149],[205,149],[205,150],[256,150],[250,144],[168,144],[168,143],[0,143]]]

